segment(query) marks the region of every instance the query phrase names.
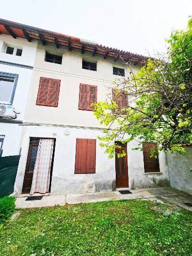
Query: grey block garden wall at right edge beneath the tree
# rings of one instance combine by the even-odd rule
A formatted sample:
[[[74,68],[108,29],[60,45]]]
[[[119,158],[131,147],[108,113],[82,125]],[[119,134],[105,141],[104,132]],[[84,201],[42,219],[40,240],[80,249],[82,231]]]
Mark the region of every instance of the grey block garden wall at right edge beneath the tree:
[[[192,147],[185,149],[183,155],[167,154],[167,164],[171,186],[192,195]]]

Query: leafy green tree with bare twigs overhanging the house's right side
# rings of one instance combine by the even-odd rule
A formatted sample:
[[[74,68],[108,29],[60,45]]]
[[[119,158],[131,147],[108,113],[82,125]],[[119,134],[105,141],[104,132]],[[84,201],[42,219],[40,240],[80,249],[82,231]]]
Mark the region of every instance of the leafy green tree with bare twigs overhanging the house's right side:
[[[187,30],[172,31],[166,42],[167,53],[149,58],[137,74],[126,63],[129,77],[117,79],[107,100],[95,103],[94,115],[106,126],[100,146],[109,157],[119,147],[116,141],[136,139],[135,150],[142,150],[143,141],[154,142],[151,156],[156,149],[183,154],[183,145],[192,143],[192,19]],[[128,104],[119,108],[122,95]]]

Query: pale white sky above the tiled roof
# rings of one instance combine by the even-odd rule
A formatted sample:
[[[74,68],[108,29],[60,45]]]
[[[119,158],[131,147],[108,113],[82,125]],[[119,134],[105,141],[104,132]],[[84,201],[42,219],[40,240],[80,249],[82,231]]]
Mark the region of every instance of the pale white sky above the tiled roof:
[[[143,55],[166,52],[165,38],[173,29],[186,29],[192,15],[192,0],[0,0],[0,3],[2,19]]]

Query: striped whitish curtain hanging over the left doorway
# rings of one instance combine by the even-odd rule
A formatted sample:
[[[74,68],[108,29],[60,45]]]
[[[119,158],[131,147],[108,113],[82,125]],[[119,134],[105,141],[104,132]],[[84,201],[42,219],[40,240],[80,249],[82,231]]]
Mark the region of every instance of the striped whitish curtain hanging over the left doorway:
[[[40,139],[30,195],[49,192],[53,139]]]

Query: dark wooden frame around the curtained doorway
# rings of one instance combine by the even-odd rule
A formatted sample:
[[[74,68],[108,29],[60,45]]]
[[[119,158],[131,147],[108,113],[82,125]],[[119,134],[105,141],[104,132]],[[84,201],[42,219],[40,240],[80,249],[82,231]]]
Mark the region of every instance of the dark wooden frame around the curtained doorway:
[[[26,175],[26,170],[27,168],[29,168],[29,158],[31,156],[31,149],[30,149],[30,154],[29,154],[29,148],[30,145],[33,145],[33,143],[39,143],[40,139],[53,139],[53,154],[52,154],[52,161],[51,161],[51,172],[50,172],[50,185],[49,185],[49,193],[51,191],[51,181],[52,181],[52,173],[53,173],[53,163],[54,163],[54,153],[55,153],[55,143],[56,143],[56,138],[43,138],[43,137],[29,137],[29,145],[28,145],[28,153],[27,153],[27,162],[26,162],[26,167],[25,167],[25,173],[24,173],[24,177],[23,177],[23,184],[22,184],[22,190],[21,190],[21,194],[26,194],[25,192],[23,192],[23,185],[24,185],[24,181],[25,181],[25,175]],[[31,142],[31,140],[34,140],[34,142]]]

